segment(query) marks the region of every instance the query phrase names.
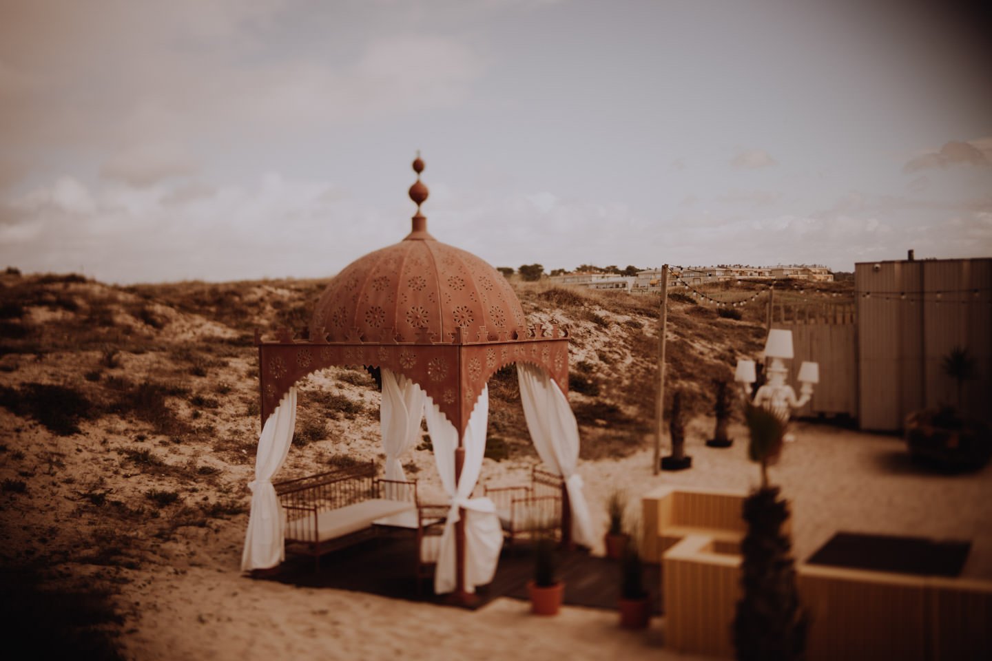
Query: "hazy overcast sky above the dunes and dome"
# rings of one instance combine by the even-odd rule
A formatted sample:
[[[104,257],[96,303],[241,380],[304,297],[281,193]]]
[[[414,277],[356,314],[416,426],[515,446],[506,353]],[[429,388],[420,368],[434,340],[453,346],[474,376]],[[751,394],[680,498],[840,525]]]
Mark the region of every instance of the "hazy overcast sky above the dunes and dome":
[[[0,0],[0,268],[333,275],[418,149],[494,266],[988,257],[992,24],[948,6]]]

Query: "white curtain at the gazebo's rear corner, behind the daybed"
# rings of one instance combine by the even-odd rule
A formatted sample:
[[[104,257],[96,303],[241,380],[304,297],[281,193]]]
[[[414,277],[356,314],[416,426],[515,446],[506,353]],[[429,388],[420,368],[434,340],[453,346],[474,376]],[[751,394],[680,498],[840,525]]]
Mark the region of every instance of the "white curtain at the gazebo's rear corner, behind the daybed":
[[[382,449],[386,452],[386,479],[406,480],[400,458],[421,439],[421,420],[427,393],[403,375],[382,369]],[[389,495],[387,494],[387,497]]]

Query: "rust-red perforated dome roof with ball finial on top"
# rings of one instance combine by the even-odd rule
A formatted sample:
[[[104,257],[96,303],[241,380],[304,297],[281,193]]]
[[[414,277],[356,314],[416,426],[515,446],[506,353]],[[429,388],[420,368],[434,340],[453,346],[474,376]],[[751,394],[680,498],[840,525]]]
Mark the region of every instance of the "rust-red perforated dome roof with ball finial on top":
[[[483,260],[440,243],[427,232],[420,204],[428,189],[418,180],[413,231],[400,243],[361,257],[336,275],[310,320],[310,339],[328,342],[452,342],[459,328],[467,342],[525,335],[520,300],[506,278]],[[322,329],[322,330],[321,330]]]

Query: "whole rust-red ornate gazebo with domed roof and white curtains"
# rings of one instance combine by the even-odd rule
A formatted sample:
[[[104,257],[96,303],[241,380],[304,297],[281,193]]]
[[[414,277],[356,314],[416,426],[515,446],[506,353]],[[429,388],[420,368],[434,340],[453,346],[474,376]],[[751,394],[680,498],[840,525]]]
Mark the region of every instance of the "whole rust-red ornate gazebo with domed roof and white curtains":
[[[256,334],[263,431],[256,480],[251,484],[245,569],[271,563],[274,557],[270,549],[261,554],[267,556],[261,560],[249,558],[253,555],[250,547],[257,541],[253,526],[264,530],[260,534],[266,543],[275,544],[277,534],[282,541],[279,523],[272,520],[280,514],[271,478],[289,450],[295,386],[310,373],[332,366],[380,371],[387,478],[391,474],[402,477],[400,453],[391,453],[390,446],[402,449],[412,435],[419,437],[422,409],[435,439],[439,471],[452,460],[437,454],[446,450],[444,442],[438,447],[436,439],[445,436],[441,427],[450,425],[453,481],[445,481],[443,474],[441,478],[451,496],[449,518],[455,521],[457,594],[473,588],[465,581],[465,509],[487,508],[479,502],[482,498],[469,498],[485,447],[486,384],[507,365],[519,366],[525,414],[539,455],[565,479],[571,525],[564,526],[570,529],[563,533],[578,543],[591,543],[581,481],[574,474],[577,427],[565,397],[567,331],[554,325],[528,326],[520,301],[503,275],[478,257],[434,239],[421,213],[428,188],[420,180],[424,170],[420,157],[413,167],[418,178],[410,187],[410,197],[417,203],[417,214],[410,234],[400,243],[359,258],[330,281],[313,311],[309,339],[295,339],[291,332],[281,331],[277,339],[264,341]],[[482,451],[473,452],[473,448]],[[467,481],[466,451],[472,465]],[[440,569],[439,564],[438,573]],[[444,592],[444,586],[438,585],[439,592]]]

